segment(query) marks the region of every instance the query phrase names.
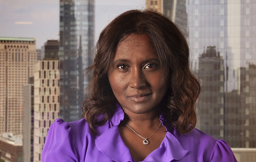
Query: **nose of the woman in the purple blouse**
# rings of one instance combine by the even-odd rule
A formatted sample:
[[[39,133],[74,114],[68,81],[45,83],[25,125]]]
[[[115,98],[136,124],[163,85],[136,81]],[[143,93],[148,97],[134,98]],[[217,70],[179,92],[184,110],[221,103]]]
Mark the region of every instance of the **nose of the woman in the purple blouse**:
[[[129,87],[141,89],[147,85],[145,76],[140,69],[134,69],[130,72]]]

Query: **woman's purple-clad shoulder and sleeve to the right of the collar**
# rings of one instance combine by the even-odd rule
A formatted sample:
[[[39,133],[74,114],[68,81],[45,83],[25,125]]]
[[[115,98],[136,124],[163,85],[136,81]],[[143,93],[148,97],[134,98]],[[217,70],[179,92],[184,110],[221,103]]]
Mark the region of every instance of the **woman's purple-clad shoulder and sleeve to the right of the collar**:
[[[176,129],[173,129],[171,133],[178,139],[182,147],[188,150],[188,155],[193,158],[211,162],[236,161],[232,150],[224,140],[217,140],[201,130],[195,128],[190,133],[181,135]],[[196,160],[199,161],[199,159]]]

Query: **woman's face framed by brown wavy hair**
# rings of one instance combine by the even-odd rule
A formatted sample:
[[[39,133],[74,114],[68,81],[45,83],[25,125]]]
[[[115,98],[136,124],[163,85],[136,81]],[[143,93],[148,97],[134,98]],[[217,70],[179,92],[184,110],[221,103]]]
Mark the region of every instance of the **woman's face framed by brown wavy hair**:
[[[119,43],[108,72],[117,101],[136,114],[157,110],[168,88],[167,76],[146,34],[130,34]]]

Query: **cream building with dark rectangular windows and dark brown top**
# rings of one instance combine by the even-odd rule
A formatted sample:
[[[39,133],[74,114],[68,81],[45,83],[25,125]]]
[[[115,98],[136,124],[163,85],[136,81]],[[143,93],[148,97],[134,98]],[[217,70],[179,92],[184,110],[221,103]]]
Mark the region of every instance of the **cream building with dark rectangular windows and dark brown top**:
[[[34,74],[34,162],[41,161],[47,132],[60,113],[59,41],[48,40],[41,52],[44,59],[36,62]]]

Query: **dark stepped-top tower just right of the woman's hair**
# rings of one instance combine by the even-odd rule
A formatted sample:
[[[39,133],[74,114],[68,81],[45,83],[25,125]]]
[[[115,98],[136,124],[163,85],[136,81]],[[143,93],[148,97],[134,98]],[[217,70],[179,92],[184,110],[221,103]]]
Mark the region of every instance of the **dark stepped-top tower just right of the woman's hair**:
[[[224,60],[215,46],[208,46],[199,57],[197,75],[202,82],[202,92],[198,100],[199,121],[197,125],[205,133],[216,138],[224,137]],[[203,109],[208,108],[208,109]],[[215,115],[215,114],[219,115]],[[203,123],[202,123],[203,121]],[[214,126],[214,129],[213,129]]]

